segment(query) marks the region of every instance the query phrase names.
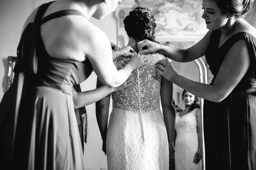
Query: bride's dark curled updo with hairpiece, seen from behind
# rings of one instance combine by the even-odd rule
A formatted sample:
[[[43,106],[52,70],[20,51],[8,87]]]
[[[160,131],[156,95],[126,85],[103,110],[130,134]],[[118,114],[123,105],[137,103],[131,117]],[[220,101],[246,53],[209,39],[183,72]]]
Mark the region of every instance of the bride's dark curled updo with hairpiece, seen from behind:
[[[138,41],[148,39],[157,42],[154,36],[156,27],[155,19],[148,8],[135,8],[129,12],[129,15],[125,17],[123,23],[128,37],[133,37]]]

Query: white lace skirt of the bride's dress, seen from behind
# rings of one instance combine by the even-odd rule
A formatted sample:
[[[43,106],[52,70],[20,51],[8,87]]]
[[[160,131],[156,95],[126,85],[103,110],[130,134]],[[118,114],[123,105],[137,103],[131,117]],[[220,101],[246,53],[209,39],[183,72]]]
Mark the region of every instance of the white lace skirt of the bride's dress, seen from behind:
[[[168,170],[168,139],[160,109],[140,114],[113,107],[106,149],[108,170]]]

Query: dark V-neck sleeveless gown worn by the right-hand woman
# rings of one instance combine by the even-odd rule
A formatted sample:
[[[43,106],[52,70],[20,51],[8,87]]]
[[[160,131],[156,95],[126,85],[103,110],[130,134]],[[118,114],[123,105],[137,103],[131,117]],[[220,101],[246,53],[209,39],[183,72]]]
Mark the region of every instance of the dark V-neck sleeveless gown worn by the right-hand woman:
[[[206,61],[214,75],[232,45],[242,39],[250,68],[235,89],[220,103],[204,101],[205,166],[207,170],[256,169],[256,38],[246,32],[230,37],[218,48],[221,31],[212,31]]]

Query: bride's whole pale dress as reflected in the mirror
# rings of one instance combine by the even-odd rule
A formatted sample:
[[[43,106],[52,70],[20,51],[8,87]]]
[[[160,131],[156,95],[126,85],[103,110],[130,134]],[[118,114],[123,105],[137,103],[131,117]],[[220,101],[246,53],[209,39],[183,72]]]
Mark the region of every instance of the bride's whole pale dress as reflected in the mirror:
[[[202,170],[201,161],[198,164],[193,162],[198,149],[196,110],[181,117],[179,112],[176,115],[175,170]]]

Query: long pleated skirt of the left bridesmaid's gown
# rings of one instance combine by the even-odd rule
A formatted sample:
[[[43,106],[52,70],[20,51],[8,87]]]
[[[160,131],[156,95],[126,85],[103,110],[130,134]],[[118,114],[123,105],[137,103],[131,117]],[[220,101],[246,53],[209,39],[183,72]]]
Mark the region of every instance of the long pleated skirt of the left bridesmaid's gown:
[[[0,105],[3,169],[84,169],[72,95],[24,84],[15,122],[15,88],[16,82]]]

